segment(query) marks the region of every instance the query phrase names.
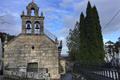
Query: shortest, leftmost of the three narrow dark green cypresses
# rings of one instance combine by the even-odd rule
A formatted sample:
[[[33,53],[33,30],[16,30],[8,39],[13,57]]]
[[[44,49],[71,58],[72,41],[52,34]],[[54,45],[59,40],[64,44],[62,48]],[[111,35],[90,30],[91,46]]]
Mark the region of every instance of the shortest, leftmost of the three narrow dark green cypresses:
[[[81,13],[80,15],[79,31],[80,31],[80,53],[78,59],[80,62],[85,62],[88,51],[87,51],[87,43],[86,43],[87,38],[86,38],[86,30],[85,30],[85,17],[83,13]]]

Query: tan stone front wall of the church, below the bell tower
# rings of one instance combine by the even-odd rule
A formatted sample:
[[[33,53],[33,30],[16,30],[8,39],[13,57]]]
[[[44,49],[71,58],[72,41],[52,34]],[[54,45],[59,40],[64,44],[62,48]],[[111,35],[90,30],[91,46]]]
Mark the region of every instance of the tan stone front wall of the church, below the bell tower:
[[[20,35],[5,45],[4,66],[27,68],[37,62],[38,68],[47,68],[51,78],[59,79],[58,44],[45,35]]]

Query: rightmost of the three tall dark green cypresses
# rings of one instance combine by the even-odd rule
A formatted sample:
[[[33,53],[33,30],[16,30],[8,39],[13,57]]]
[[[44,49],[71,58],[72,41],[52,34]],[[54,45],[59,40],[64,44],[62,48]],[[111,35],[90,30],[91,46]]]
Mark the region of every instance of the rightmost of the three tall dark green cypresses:
[[[104,60],[104,44],[103,44],[103,37],[102,37],[102,31],[101,31],[101,25],[100,25],[100,20],[99,20],[99,15],[97,12],[96,7],[94,6],[93,9],[93,27],[95,29],[95,47],[96,47],[96,57],[99,62],[103,62]],[[98,54],[98,56],[97,56]]]

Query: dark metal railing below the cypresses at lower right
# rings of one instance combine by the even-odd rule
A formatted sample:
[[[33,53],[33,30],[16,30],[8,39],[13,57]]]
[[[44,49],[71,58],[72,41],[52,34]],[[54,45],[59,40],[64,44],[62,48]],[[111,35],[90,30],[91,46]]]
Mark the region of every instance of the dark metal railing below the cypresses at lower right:
[[[87,80],[120,80],[119,66],[75,64],[74,73],[82,75]]]

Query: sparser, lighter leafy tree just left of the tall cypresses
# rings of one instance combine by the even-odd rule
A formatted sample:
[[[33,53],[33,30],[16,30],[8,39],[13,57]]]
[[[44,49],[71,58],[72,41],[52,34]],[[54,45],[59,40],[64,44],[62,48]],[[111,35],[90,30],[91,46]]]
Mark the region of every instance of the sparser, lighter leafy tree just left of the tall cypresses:
[[[76,22],[75,28],[73,30],[70,29],[69,35],[67,37],[67,46],[69,49],[69,56],[71,60],[75,60],[77,54],[79,53],[80,37],[78,25],[78,22]]]

